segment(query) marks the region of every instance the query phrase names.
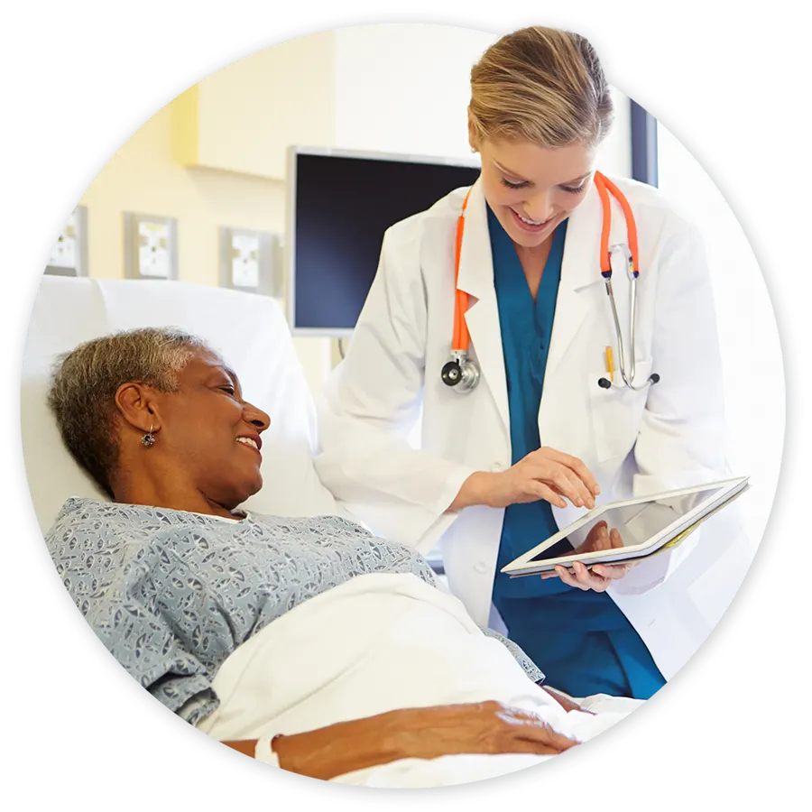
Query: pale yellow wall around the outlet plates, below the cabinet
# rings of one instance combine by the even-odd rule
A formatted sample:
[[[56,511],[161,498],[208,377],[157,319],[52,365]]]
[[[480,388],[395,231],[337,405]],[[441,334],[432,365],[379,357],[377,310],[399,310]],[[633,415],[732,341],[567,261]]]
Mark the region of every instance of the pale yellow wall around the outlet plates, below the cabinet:
[[[218,226],[282,233],[284,184],[191,168],[172,155],[173,106],[165,106],[107,161],[80,200],[88,208],[90,276],[123,279],[123,212],[178,218],[180,281],[219,283]]]

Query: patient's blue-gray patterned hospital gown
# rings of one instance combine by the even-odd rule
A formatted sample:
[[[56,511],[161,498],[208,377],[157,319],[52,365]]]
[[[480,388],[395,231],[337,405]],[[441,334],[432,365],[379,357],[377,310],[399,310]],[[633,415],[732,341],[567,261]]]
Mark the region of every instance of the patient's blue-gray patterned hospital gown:
[[[337,517],[232,521],[69,499],[45,542],[107,650],[193,724],[217,707],[211,683],[226,657],[297,604],[365,573],[436,584],[419,553]],[[486,633],[543,678],[518,646]]]

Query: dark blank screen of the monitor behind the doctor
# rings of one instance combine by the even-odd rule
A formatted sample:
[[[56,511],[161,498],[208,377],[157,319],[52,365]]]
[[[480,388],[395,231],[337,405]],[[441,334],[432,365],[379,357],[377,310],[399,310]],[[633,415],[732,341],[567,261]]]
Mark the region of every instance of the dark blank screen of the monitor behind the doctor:
[[[478,176],[475,167],[298,153],[292,327],[355,328],[383,232]]]

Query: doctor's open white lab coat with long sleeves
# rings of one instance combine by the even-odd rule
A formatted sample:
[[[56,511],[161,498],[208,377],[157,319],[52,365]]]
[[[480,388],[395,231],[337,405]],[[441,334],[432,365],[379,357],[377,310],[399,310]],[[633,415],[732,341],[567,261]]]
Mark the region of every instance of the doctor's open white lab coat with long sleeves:
[[[629,199],[639,235],[636,381],[656,372],[660,383],[645,392],[597,385],[605,374],[605,347],[614,347],[615,358],[618,351],[600,275],[602,209],[591,185],[567,225],[539,411],[542,446],[584,460],[601,485],[601,500],[729,474],[715,311],[701,238],[656,189],[614,180]],[[316,466],[333,494],[377,534],[424,553],[440,540],[448,586],[485,625],[504,512],[481,506],[446,510],[468,475],[511,465],[511,441],[481,180],[466,210],[459,287],[471,296],[466,322],[482,379],[466,394],[440,380],[449,360],[455,231],[465,193],[458,189],[386,232],[346,360],[319,402]],[[613,198],[609,245],[626,242],[623,212]],[[614,266],[613,284],[628,353],[629,288],[622,262]],[[408,436],[421,406],[422,445],[414,450]],[[572,507],[553,511],[559,527],[582,514]],[[670,574],[698,549],[698,535],[641,563],[609,589],[666,678],[710,631],[689,590],[669,590]],[[736,538],[734,532],[725,535],[702,545],[711,558]]]

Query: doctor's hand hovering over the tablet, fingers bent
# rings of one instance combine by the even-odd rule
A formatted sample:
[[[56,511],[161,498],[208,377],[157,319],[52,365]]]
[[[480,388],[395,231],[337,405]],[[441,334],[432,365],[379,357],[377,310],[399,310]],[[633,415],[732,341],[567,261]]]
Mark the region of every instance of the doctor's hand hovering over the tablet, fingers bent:
[[[539,448],[507,471],[470,475],[448,510],[473,504],[504,508],[541,499],[563,508],[567,507],[564,497],[576,507],[592,510],[600,493],[595,476],[577,457],[555,448]]]

